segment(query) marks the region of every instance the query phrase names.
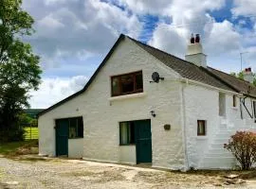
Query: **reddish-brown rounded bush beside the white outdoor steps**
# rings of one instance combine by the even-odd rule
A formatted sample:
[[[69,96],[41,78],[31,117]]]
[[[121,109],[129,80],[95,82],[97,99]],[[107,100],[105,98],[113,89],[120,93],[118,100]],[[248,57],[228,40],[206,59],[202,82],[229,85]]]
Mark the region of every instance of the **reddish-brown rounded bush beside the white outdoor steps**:
[[[251,131],[237,131],[224,144],[241,164],[243,170],[248,170],[256,162],[256,133]]]

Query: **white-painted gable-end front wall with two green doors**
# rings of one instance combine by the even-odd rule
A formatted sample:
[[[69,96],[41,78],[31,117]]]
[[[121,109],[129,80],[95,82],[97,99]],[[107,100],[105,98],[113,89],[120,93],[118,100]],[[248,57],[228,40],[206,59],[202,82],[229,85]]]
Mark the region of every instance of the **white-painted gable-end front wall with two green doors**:
[[[110,100],[110,77],[138,70],[143,72],[145,95]],[[155,71],[165,80],[150,83]],[[119,146],[119,122],[151,119],[153,166],[184,169],[180,114],[182,84],[175,81],[178,77],[162,62],[125,38],[83,94],[40,116],[40,153],[55,155],[54,119],[82,115],[84,159],[136,163],[135,146]],[[152,110],[156,113],[155,118],[150,113]],[[164,130],[165,124],[171,124],[171,130]]]

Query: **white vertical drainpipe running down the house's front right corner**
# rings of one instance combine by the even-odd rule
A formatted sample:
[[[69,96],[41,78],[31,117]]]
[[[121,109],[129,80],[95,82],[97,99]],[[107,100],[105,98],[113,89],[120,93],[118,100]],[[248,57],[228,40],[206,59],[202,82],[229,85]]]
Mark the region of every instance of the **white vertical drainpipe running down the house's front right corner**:
[[[186,84],[189,84],[189,80],[186,79]],[[187,130],[186,130],[186,111],[185,111],[185,98],[184,98],[184,86],[181,83],[181,103],[182,103],[182,109],[181,109],[181,114],[182,114],[182,128],[183,128],[183,144],[184,144],[184,158],[185,158],[185,171],[190,168],[190,163],[189,163],[189,157],[188,157],[188,148],[187,148]]]

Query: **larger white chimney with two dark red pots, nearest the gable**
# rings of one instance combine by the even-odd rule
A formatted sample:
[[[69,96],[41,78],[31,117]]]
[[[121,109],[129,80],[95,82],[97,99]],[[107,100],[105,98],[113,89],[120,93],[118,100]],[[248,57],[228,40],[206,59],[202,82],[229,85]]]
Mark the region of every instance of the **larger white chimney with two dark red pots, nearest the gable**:
[[[207,67],[207,56],[203,52],[202,44],[200,43],[200,36],[196,34],[195,39],[192,35],[191,43],[188,45],[185,60],[191,61],[197,66]]]

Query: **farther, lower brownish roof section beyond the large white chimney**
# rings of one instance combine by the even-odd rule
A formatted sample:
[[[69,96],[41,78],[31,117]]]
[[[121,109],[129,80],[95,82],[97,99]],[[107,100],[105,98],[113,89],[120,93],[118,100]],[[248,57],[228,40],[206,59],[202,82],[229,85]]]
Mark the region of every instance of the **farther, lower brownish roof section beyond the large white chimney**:
[[[223,82],[232,86],[237,92],[256,97],[256,87],[246,80],[233,77],[227,73],[221,72],[211,67],[208,67],[207,69],[210,71],[210,73],[214,74],[216,77],[219,77],[219,79],[221,79]]]

